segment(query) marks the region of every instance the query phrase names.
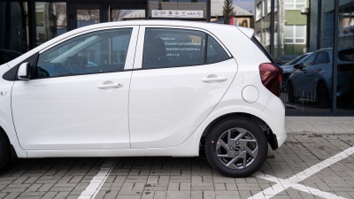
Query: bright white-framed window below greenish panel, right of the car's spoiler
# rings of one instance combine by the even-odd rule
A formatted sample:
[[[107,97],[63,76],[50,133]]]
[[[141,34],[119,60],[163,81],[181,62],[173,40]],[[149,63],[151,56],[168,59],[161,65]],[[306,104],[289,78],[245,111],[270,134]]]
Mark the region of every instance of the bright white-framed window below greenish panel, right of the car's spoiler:
[[[306,26],[285,26],[285,44],[304,44],[306,42]]]

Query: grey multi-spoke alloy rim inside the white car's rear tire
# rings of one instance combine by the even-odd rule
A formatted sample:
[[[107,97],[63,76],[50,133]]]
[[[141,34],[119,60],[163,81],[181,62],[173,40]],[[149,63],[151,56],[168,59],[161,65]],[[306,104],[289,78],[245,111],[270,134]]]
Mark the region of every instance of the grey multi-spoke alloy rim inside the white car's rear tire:
[[[231,128],[219,136],[216,154],[221,164],[230,169],[244,169],[258,156],[258,142],[250,131]]]

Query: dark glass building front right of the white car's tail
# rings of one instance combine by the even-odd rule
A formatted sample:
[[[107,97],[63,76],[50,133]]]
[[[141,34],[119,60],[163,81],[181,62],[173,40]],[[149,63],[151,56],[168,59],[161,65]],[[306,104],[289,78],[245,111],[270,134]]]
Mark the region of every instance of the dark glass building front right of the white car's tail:
[[[354,1],[256,0],[255,11],[255,36],[284,70],[287,114],[353,115]]]

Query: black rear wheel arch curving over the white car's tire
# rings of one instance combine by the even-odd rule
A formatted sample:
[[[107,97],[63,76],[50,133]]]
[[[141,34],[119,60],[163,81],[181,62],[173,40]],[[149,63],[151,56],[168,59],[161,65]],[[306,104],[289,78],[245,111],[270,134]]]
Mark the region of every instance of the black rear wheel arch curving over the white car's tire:
[[[212,120],[212,122],[204,129],[204,132],[200,138],[199,149],[202,150],[204,149],[206,137],[211,132],[213,126],[215,126],[216,124],[218,124],[220,121],[224,119],[235,118],[235,117],[250,119],[256,125],[258,125],[266,134],[267,141],[271,145],[272,149],[278,149],[278,142],[276,139],[276,135],[273,134],[271,127],[268,126],[263,119],[260,119],[257,116],[245,112],[231,112],[231,113],[221,115],[217,119]]]

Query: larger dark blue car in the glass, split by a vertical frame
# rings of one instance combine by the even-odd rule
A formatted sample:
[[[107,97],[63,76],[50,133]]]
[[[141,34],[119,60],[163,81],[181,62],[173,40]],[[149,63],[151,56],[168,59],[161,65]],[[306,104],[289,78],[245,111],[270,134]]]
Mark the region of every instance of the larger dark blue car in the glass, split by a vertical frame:
[[[299,98],[317,102],[327,107],[332,100],[333,49],[317,50],[303,64],[295,65],[289,76],[289,102]],[[338,50],[336,96],[339,101],[354,101],[354,48]]]

